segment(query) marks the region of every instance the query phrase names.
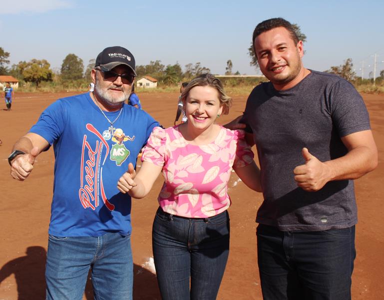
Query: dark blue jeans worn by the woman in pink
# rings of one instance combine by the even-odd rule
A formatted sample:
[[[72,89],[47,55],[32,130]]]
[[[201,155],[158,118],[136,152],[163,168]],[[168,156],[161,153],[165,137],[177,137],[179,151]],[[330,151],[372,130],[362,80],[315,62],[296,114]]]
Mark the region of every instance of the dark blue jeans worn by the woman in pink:
[[[153,258],[163,300],[216,299],[229,254],[229,215],[186,218],[156,212]]]

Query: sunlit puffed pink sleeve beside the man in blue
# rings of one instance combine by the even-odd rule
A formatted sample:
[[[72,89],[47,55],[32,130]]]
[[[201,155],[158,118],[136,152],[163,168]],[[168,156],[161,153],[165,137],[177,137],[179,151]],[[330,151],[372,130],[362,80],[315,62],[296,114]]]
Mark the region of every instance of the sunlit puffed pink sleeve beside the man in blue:
[[[163,166],[166,139],[165,129],[154,127],[148,138],[147,144],[144,147],[141,161],[148,161]]]

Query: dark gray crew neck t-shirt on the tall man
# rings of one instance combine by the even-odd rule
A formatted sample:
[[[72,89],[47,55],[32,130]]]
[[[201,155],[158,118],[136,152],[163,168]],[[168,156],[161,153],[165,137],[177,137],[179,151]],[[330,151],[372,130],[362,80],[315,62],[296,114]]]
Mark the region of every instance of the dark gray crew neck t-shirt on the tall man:
[[[283,231],[346,228],[357,223],[353,180],[328,182],[316,192],[298,187],[293,170],[307,147],[321,161],[348,151],[341,137],[371,129],[363,98],[347,80],[311,70],[293,88],[271,82],[248,97],[243,122],[254,134],[264,201],[256,221]]]

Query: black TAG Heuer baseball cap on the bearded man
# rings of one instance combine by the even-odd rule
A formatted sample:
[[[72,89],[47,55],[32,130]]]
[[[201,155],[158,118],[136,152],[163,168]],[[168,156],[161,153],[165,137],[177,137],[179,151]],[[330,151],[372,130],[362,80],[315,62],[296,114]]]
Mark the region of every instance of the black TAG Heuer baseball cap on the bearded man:
[[[96,57],[95,67],[99,67],[102,71],[110,71],[119,64],[129,66],[136,75],[135,58],[130,51],[120,46],[106,47],[102,50]]]

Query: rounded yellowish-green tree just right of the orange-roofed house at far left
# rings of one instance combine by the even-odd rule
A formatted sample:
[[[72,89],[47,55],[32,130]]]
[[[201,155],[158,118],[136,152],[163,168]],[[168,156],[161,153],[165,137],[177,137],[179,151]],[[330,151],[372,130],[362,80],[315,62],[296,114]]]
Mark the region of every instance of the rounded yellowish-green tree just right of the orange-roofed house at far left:
[[[32,59],[26,62],[22,70],[24,80],[36,83],[37,87],[41,81],[51,81],[53,72],[49,67],[50,64],[45,59]]]

